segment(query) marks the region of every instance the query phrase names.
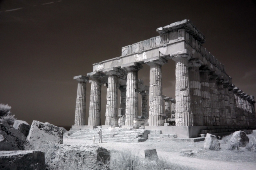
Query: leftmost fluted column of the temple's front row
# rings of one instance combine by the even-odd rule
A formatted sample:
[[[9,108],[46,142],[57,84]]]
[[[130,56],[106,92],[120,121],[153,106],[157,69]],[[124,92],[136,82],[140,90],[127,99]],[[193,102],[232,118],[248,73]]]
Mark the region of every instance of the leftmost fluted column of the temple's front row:
[[[89,78],[84,75],[78,75],[75,76],[74,79],[78,81],[76,95],[75,126],[80,126],[85,125],[86,82]]]

